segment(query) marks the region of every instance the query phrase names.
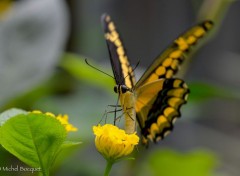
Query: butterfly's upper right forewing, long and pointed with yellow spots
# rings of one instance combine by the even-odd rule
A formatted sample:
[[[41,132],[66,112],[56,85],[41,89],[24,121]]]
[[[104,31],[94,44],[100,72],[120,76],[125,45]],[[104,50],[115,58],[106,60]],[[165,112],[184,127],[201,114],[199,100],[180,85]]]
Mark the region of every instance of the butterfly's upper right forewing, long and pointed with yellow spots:
[[[160,54],[137,82],[136,87],[161,78],[172,78],[179,66],[212,28],[212,21],[204,21],[180,35],[173,44]]]

